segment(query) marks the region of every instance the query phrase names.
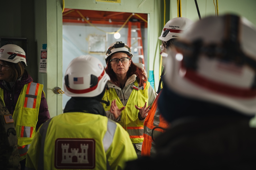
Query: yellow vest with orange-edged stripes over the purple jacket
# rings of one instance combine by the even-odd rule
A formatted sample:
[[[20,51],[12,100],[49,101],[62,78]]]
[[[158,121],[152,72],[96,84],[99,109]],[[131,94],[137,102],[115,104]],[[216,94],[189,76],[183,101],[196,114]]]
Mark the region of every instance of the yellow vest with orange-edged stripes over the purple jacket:
[[[2,97],[3,91],[3,89],[0,90]],[[42,91],[42,84],[34,82],[25,84],[13,112],[20,160],[26,158],[28,147],[36,133]]]

